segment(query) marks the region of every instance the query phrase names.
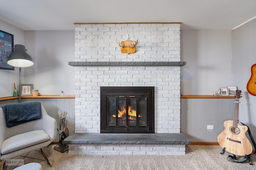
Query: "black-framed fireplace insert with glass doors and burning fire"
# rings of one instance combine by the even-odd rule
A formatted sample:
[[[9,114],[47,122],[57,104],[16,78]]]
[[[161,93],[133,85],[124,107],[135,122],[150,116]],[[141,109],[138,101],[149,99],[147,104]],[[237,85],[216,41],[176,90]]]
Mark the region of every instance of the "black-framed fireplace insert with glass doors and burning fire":
[[[154,133],[154,87],[100,87],[100,133]]]

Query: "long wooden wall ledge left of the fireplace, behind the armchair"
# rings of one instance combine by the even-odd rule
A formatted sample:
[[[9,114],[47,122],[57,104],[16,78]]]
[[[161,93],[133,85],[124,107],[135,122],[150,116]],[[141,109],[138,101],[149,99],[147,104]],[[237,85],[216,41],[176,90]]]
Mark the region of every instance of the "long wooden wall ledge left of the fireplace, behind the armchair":
[[[19,97],[0,97],[0,101],[18,99]],[[32,99],[74,99],[75,95],[38,95],[38,96],[22,96],[21,98]]]

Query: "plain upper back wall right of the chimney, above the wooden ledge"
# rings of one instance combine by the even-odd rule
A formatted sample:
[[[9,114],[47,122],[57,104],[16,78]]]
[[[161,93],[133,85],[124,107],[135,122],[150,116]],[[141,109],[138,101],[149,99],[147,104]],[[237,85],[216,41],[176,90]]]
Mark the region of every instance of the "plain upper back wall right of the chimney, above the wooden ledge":
[[[232,31],[181,30],[183,95],[212,95],[232,86]],[[239,88],[239,87],[238,87]]]

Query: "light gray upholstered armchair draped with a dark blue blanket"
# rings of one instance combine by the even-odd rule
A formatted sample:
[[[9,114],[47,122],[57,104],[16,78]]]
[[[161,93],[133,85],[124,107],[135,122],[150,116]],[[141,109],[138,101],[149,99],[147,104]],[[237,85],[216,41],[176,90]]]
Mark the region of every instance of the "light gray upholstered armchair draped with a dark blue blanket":
[[[18,103],[14,105],[26,104],[27,103]],[[41,149],[42,151],[42,148],[48,146],[54,140],[57,128],[56,120],[47,114],[46,110],[41,104],[39,104],[39,107],[40,106],[40,119],[15,125],[13,127],[6,126],[6,116],[4,114],[5,106],[0,108],[1,169],[4,166],[4,160],[12,159],[38,149]],[[43,151],[42,154],[44,154]],[[45,154],[44,156],[51,165],[52,163],[48,160]]]

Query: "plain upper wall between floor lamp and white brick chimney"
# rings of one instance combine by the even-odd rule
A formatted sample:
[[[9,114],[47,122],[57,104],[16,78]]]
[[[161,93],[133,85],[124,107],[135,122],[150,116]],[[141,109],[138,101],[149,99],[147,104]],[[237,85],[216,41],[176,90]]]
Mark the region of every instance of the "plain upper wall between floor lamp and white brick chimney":
[[[26,31],[25,46],[34,65],[25,68],[24,83],[34,84],[41,95],[74,95],[74,31]]]

